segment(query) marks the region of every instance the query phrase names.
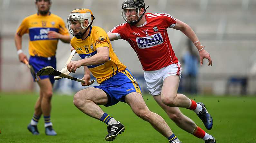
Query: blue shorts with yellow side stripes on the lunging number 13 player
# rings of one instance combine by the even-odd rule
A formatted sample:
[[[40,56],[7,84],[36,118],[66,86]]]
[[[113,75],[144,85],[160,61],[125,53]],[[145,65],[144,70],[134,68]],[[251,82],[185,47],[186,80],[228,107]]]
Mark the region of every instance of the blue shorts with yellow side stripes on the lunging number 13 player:
[[[100,86],[94,87],[102,89],[107,94],[108,103],[104,105],[106,107],[115,105],[119,101],[125,102],[124,97],[131,92],[141,94],[139,83],[128,69],[120,71],[118,74],[100,83]]]

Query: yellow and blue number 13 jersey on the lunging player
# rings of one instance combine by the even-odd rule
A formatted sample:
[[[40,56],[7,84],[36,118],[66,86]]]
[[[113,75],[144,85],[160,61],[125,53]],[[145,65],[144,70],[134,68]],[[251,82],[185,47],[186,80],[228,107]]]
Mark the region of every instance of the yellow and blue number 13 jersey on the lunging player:
[[[113,51],[107,33],[102,28],[91,26],[89,30],[90,33],[85,40],[73,37],[71,39],[71,46],[82,59],[95,55],[97,53],[96,49],[99,47],[109,47],[109,61],[100,65],[87,66],[92,75],[97,79],[97,83],[100,84],[120,71],[125,70],[126,66],[119,61]]]

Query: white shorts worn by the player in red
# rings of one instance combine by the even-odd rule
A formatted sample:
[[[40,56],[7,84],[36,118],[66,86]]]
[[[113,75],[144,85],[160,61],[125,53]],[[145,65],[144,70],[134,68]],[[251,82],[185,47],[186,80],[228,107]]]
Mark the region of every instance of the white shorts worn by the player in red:
[[[171,75],[178,75],[181,78],[180,62],[158,70],[144,71],[144,78],[149,93],[152,96],[160,95],[165,78]]]

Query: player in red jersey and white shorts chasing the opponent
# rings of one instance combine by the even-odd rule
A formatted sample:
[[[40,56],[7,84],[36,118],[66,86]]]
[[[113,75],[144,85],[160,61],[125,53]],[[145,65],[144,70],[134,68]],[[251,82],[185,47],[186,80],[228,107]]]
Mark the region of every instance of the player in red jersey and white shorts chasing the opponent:
[[[206,129],[212,129],[213,119],[205,105],[177,93],[181,65],[172,49],[166,29],[180,30],[195,44],[201,65],[203,59],[208,59],[208,66],[212,65],[210,54],[187,24],[169,14],[146,13],[147,8],[143,0],[125,0],[122,3],[122,15],[126,23],[108,32],[109,39],[128,41],[141,62],[149,93],[180,128],[204,139],[205,143],[215,143],[213,136],[198,127],[178,108],[193,110],[203,121]]]

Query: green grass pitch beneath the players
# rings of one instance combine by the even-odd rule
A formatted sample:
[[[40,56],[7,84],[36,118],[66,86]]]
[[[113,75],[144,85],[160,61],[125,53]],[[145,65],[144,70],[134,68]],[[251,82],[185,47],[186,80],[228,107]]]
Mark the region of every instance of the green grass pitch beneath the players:
[[[73,105],[72,96],[54,95],[52,123],[57,136],[44,134],[43,118],[39,121],[40,135],[33,136],[27,129],[33,115],[34,93],[0,93],[0,143],[106,143],[107,125],[84,115]],[[256,97],[189,96],[204,102],[213,116],[213,129],[207,131],[218,143],[256,142]],[[183,143],[203,143],[178,128],[156,104],[151,96],[144,96],[149,109],[161,115]],[[119,102],[112,107],[101,106],[105,112],[125,125],[126,130],[113,143],[167,143],[149,123],[137,117],[130,107]],[[196,114],[188,109],[182,112],[205,129]]]

